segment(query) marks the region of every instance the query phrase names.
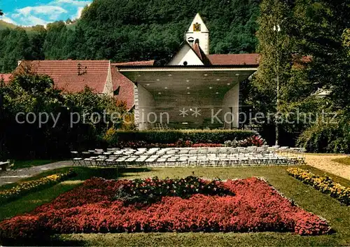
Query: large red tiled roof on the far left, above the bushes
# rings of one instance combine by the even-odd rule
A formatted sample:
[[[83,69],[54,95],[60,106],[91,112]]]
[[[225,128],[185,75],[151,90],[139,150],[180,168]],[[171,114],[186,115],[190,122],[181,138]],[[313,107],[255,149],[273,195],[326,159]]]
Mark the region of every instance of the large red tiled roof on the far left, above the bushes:
[[[64,92],[80,92],[88,86],[94,92],[102,94],[110,62],[109,60],[35,60],[22,62],[18,69],[23,69],[24,66],[33,73],[50,76],[55,82],[55,87]]]

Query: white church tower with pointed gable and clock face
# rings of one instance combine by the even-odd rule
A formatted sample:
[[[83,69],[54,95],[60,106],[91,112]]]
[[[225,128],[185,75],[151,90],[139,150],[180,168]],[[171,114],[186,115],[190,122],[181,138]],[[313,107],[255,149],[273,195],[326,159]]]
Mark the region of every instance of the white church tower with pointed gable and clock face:
[[[209,54],[209,30],[199,13],[197,13],[186,32],[186,41],[190,43],[190,45],[198,42],[204,54]]]

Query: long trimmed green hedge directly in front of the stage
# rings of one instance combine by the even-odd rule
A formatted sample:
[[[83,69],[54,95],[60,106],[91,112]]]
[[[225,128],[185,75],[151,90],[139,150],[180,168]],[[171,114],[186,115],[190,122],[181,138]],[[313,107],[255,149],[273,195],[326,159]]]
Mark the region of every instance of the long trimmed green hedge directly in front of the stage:
[[[230,140],[242,140],[256,134],[252,131],[239,129],[216,130],[145,130],[139,132],[117,131],[113,135],[113,143],[120,141],[145,141],[146,143],[176,143],[179,139],[193,143],[224,143]]]

